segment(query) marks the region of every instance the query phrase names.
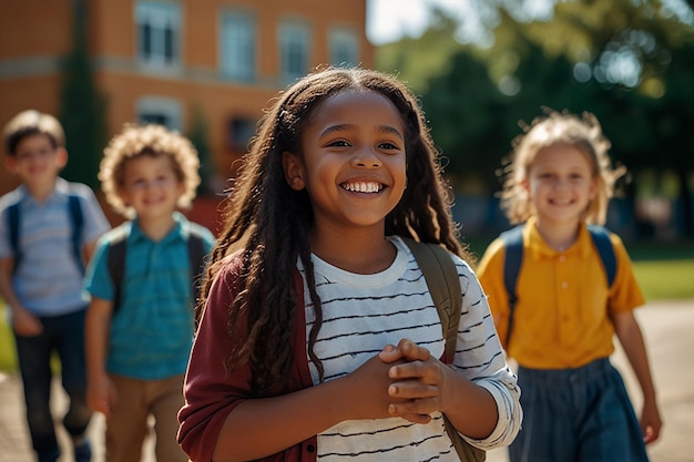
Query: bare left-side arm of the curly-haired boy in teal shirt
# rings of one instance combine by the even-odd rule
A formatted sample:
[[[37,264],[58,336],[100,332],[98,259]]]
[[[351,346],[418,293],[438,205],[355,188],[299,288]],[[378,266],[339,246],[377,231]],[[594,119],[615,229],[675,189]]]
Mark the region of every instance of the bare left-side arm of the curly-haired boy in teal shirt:
[[[92,297],[84,326],[84,355],[86,358],[86,402],[94,411],[106,417],[115,405],[113,383],[106,373],[109,331],[113,302]]]

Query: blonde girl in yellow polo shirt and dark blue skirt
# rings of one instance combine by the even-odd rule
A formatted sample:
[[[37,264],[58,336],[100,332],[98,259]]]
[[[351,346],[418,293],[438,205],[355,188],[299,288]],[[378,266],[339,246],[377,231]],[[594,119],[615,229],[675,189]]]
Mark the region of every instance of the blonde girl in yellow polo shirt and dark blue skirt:
[[[604,223],[624,170],[611,166],[610,142],[588,113],[548,111],[513,146],[501,197],[510,222],[524,224],[512,317],[502,237],[477,271],[499,337],[519,365],[524,419],[510,460],[647,461],[645,444],[662,422],[633,315],[644,299],[621,239],[609,234],[616,261],[609,285],[588,228]],[[643,392],[640,419],[609,361],[614,333]]]

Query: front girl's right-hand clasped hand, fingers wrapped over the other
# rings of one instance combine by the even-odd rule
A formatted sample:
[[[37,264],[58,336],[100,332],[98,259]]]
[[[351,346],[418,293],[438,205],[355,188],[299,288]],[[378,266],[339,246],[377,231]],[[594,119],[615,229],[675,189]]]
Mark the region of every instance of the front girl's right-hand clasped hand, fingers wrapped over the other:
[[[431,412],[443,410],[447,374],[455,372],[431,357],[428,349],[402,339],[397,347],[384,348],[379,358],[390,365],[388,376],[392,383],[388,394],[402,400],[390,404],[390,415],[429,423]]]

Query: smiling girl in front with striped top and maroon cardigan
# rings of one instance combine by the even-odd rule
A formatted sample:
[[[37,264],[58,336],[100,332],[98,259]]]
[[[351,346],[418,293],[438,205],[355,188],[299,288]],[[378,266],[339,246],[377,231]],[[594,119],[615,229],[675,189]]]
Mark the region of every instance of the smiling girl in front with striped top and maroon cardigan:
[[[452,367],[401,237],[463,294]],[[237,251],[235,251],[237,250]],[[263,119],[212,254],[178,441],[193,461],[453,461],[508,444],[519,390],[455,233],[418,103],[361,69],[306,76]]]

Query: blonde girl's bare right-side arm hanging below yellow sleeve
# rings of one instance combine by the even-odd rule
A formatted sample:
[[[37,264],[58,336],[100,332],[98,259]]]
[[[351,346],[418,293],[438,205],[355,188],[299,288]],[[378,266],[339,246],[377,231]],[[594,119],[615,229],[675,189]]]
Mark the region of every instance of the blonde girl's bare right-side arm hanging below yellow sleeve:
[[[643,393],[643,410],[641,411],[640,423],[643,431],[643,441],[647,444],[657,440],[663,423],[657,409],[655,387],[653,386],[645,342],[633,311],[616,312],[612,316],[612,320],[616,337],[620,339],[620,343],[634,370]]]

